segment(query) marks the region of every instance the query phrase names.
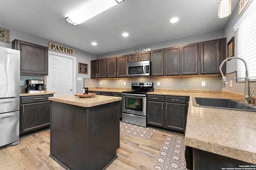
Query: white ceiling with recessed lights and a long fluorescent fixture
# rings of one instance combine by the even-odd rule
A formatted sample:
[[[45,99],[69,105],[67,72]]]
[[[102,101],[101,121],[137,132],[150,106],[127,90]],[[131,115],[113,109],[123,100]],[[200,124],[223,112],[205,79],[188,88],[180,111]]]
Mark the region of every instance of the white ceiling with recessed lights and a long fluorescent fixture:
[[[65,21],[89,1],[0,0],[0,23],[98,55],[223,29],[228,20],[218,18],[219,0],[125,0],[78,26]]]

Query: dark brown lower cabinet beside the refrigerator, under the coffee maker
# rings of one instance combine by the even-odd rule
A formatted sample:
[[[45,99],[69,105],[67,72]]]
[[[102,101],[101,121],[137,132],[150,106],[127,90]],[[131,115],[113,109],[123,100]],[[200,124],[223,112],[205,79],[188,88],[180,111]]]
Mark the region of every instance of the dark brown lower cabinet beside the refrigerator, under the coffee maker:
[[[50,127],[50,101],[53,95],[21,97],[20,135]]]

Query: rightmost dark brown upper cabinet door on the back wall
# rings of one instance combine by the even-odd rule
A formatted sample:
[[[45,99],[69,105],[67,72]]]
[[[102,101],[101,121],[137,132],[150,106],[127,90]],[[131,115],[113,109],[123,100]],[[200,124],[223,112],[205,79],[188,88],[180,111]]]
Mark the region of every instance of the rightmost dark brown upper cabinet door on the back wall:
[[[219,73],[220,39],[201,43],[201,74]]]

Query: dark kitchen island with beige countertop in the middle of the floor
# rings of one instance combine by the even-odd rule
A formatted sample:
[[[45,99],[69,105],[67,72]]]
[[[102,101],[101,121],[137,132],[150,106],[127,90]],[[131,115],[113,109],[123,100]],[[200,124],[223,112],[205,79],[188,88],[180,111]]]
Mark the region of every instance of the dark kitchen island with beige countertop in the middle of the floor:
[[[105,169],[119,148],[119,107],[114,96],[50,97],[50,157],[66,169]]]

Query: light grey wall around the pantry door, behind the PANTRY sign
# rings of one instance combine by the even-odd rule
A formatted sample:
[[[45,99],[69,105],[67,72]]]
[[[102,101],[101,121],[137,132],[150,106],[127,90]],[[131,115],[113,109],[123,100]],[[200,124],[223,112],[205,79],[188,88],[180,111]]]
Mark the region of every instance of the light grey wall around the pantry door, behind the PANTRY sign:
[[[10,30],[10,43],[0,42],[0,47],[12,48],[12,41],[14,39],[19,39],[19,40],[26,41],[29,43],[42,45],[44,47],[48,47],[48,42],[57,43],[57,44],[66,46],[64,44],[61,44],[61,43],[58,43],[55,41],[51,41],[49,39],[45,39],[42,37],[38,37],[36,35],[32,35],[29,33],[25,33],[25,32],[19,31],[17,29],[10,28],[5,25],[0,25],[0,27]],[[69,46],[66,46],[66,47],[69,47]],[[70,47],[70,48],[73,48],[76,51],[76,54],[74,55],[74,57],[76,57],[76,92],[75,93],[82,93],[82,89],[84,87],[84,81],[83,81],[84,78],[91,77],[90,76],[91,75],[91,60],[95,60],[97,58],[97,56],[94,54],[91,54],[91,53],[87,53],[85,51],[81,51],[74,47]],[[79,74],[78,73],[78,63],[88,64],[88,74]],[[82,81],[77,81],[77,77],[82,77]]]

